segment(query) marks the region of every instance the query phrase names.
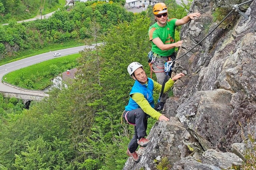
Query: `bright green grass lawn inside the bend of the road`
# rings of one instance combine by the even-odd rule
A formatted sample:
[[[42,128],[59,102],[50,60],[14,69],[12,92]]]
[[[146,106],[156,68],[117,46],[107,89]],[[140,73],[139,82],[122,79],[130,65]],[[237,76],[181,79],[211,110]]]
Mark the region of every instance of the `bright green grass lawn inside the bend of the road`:
[[[75,68],[78,57],[79,53],[34,64],[6,74],[3,80],[22,88],[43,90],[52,84],[51,80],[58,74]]]

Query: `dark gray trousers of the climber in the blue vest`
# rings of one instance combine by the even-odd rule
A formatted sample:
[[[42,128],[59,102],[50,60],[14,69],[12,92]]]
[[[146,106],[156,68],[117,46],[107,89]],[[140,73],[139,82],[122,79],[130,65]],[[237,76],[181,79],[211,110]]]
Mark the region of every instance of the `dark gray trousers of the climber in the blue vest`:
[[[123,118],[125,119],[125,114],[127,111],[124,112]],[[130,152],[134,152],[138,148],[137,139],[139,137],[145,137],[147,136],[146,130],[148,128],[148,115],[141,109],[134,109],[129,111],[126,114],[128,123],[135,124],[134,126],[134,135],[132,137],[132,140],[130,141],[128,145],[128,149]]]

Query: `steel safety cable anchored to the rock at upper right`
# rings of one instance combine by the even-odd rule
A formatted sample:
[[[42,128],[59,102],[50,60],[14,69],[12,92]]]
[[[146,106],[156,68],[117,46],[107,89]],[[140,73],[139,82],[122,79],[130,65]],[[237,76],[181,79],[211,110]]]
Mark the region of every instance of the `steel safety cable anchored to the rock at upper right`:
[[[232,6],[233,8],[232,8],[232,10],[230,11],[230,13],[228,13],[228,15],[227,15],[225,18],[223,18],[223,20],[220,21],[220,23],[218,23],[218,25],[216,25],[216,27],[214,27],[214,29],[212,29],[212,31],[210,31],[210,33],[208,33],[201,41],[199,41],[196,45],[194,45],[194,47],[192,47],[190,50],[188,50],[185,54],[183,54],[182,56],[178,57],[178,58],[175,59],[175,60],[169,61],[168,63],[170,64],[170,63],[173,63],[174,61],[180,59],[181,57],[183,57],[183,56],[185,56],[186,54],[188,54],[192,49],[194,49],[194,48],[195,48],[196,46],[198,46],[200,43],[202,43],[202,41],[204,41],[204,40],[205,40],[205,39],[206,39],[206,38],[224,21],[224,20],[226,20],[226,18],[228,18],[228,16],[230,16],[230,14],[232,14],[233,11],[238,11],[239,14],[241,14],[246,20],[248,20],[249,17],[246,16],[243,12],[241,12],[238,7],[241,6],[241,5],[243,5],[243,4],[246,4],[246,3],[248,3],[248,2],[252,2],[252,1],[254,1],[254,0],[248,0],[248,1],[243,2],[243,3],[241,3],[241,4],[236,4],[236,5]],[[150,69],[151,69],[151,70],[152,70],[152,65],[153,65],[153,64],[154,64],[154,61],[153,61],[152,63],[150,63]]]

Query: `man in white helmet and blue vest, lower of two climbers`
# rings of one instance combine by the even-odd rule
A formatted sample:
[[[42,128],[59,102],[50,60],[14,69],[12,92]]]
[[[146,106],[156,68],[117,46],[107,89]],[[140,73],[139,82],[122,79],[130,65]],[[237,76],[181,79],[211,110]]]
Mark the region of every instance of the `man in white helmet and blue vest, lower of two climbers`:
[[[138,62],[129,64],[128,73],[135,80],[130,92],[130,100],[122,114],[128,123],[134,125],[134,136],[128,145],[126,153],[132,156],[135,162],[140,161],[140,156],[136,149],[140,145],[146,147],[149,140],[147,136],[147,118],[153,117],[159,121],[169,121],[169,119],[154,109],[153,91],[161,92],[162,85],[147,77],[143,66]],[[176,74],[168,80],[164,86],[164,92],[167,92],[174,84],[174,81],[184,76],[183,73]]]

